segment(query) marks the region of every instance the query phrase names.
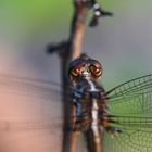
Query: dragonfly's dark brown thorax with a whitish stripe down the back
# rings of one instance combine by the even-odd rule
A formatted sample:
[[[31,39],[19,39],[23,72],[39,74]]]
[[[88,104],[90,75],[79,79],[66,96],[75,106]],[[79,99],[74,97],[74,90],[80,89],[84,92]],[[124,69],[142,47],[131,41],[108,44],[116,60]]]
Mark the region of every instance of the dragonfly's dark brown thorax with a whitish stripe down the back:
[[[106,110],[106,101],[101,93],[104,93],[103,88],[100,88],[93,79],[81,78],[77,81],[73,91],[76,119],[81,122],[80,124],[78,123],[80,125],[79,129],[89,129],[93,124],[96,124],[93,126],[101,125],[102,115],[104,110]]]

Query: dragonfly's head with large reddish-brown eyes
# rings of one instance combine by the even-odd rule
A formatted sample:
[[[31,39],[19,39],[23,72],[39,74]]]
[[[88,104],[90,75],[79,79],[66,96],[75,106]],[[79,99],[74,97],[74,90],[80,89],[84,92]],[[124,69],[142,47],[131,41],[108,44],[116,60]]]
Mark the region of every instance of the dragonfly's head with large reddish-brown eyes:
[[[68,76],[72,81],[80,78],[97,79],[102,75],[101,64],[93,59],[83,54],[69,64]]]

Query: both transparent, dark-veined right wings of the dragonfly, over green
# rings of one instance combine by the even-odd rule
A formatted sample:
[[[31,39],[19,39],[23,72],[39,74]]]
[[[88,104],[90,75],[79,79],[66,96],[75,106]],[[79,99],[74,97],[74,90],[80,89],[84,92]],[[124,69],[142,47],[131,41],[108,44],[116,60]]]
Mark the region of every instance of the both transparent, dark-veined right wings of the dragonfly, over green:
[[[152,74],[124,83],[107,93],[111,126],[122,129],[105,134],[105,152],[152,151]]]

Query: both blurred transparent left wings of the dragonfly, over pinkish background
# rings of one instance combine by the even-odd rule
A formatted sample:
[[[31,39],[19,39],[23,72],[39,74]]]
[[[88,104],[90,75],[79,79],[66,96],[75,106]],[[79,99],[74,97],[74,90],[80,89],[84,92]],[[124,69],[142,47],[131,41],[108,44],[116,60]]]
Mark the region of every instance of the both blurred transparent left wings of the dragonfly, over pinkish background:
[[[0,75],[0,151],[60,152],[63,102],[60,86]]]

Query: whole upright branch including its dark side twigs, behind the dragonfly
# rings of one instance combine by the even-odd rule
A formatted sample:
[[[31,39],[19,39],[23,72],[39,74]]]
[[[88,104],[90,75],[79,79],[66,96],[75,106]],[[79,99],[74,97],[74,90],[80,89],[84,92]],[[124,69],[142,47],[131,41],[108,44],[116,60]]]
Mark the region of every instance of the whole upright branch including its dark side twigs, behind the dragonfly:
[[[59,52],[61,58],[61,79],[63,85],[63,152],[76,152],[76,142],[78,132],[67,131],[72,117],[75,113],[73,102],[69,100],[69,87],[67,78],[67,68],[72,60],[78,58],[81,53],[83,38],[86,27],[86,17],[89,9],[93,10],[92,20],[90,26],[98,25],[100,16],[111,15],[110,12],[101,10],[99,3],[96,0],[73,0],[74,2],[74,16],[72,20],[72,28],[69,31],[69,38],[66,41],[62,41],[56,45],[49,45],[47,52]]]

